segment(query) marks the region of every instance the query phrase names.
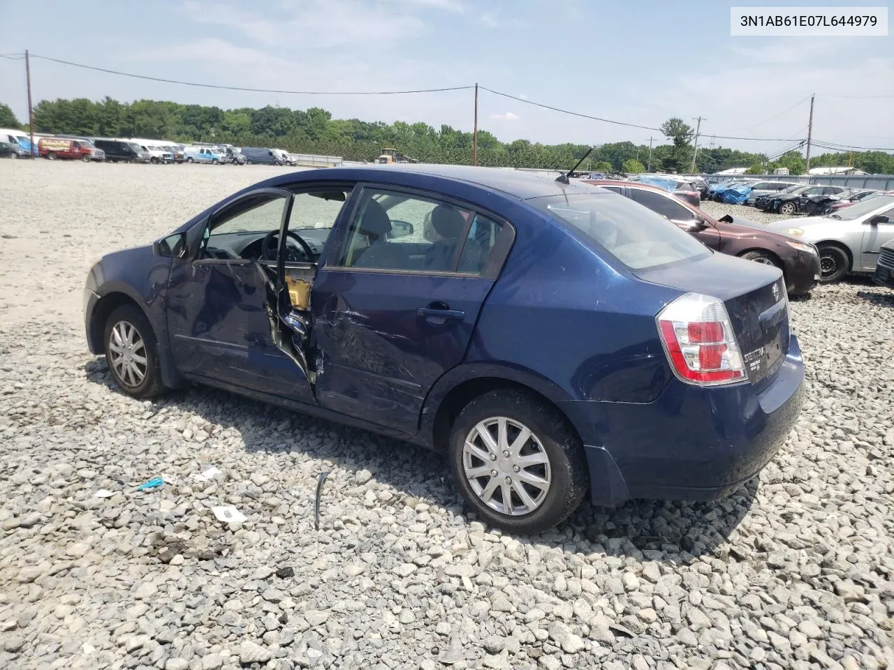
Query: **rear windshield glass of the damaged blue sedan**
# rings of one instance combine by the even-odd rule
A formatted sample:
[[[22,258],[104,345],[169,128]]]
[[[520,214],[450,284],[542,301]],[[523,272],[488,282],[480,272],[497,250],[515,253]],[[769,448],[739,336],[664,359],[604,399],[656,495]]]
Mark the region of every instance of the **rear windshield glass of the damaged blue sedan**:
[[[570,224],[631,270],[696,260],[711,252],[643,205],[613,194],[546,196],[527,200],[553,219]]]

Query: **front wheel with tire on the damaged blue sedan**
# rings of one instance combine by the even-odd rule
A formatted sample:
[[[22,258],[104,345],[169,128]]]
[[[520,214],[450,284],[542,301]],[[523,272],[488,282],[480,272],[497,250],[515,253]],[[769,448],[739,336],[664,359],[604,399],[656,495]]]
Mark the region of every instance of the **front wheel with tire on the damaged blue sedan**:
[[[155,332],[132,305],[114,310],[105,322],[105,361],[119,389],[133,398],[164,392]]]

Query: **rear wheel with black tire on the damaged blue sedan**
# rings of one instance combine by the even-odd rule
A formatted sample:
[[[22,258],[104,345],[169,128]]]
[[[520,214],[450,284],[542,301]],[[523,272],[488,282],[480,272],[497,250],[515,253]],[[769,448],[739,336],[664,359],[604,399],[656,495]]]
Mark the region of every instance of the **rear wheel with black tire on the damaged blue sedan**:
[[[525,391],[496,389],[472,400],[453,424],[449,449],[469,507],[506,532],[552,528],[586,494],[578,436],[557,410]]]

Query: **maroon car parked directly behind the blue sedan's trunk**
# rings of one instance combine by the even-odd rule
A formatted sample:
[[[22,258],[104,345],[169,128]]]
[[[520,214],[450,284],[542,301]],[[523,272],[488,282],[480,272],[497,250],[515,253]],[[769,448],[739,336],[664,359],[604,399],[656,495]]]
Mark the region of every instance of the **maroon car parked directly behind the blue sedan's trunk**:
[[[585,181],[645,205],[721,254],[778,267],[791,295],[808,293],[820,279],[820,255],[812,244],[763,230],[759,223],[734,220],[729,214],[714,220],[663,188],[636,181]]]

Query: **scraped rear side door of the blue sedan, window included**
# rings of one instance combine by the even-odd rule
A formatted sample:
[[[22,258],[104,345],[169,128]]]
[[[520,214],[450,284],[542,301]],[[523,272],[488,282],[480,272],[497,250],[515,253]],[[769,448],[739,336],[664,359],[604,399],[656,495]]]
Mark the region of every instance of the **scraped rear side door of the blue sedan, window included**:
[[[508,254],[508,223],[431,194],[367,186],[312,293],[316,399],[417,431],[434,382],[460,364]]]

